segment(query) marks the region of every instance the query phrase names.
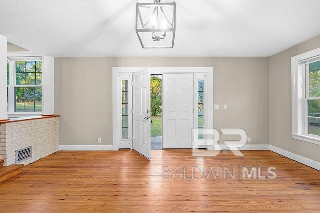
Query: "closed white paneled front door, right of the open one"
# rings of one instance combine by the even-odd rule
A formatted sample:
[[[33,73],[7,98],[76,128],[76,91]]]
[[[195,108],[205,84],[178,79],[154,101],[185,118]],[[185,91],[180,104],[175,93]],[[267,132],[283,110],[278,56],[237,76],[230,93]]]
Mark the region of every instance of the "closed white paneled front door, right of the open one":
[[[163,74],[163,148],[192,148],[193,74]]]

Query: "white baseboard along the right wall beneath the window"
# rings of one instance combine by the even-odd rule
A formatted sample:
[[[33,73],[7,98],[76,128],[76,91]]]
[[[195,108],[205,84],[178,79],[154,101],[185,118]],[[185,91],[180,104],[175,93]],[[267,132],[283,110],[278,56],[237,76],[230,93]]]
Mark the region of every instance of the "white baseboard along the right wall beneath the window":
[[[269,150],[273,151],[277,154],[280,154],[282,156],[285,156],[287,158],[290,158],[292,160],[295,160],[295,161],[302,163],[304,165],[310,166],[311,168],[314,168],[316,170],[320,170],[320,162],[317,162],[317,161],[311,160],[309,158],[297,155],[295,153],[283,150],[283,149],[275,147],[273,145],[269,145]]]

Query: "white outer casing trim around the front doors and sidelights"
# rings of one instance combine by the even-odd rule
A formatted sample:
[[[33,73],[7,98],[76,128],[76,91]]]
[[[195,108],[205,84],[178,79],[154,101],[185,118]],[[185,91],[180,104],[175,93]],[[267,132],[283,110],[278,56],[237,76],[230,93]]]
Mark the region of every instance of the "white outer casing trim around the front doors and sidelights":
[[[118,96],[118,90],[121,89],[121,84],[118,84],[119,73],[134,73],[146,67],[113,67],[112,68],[112,150],[119,150],[121,131],[121,117],[118,102],[121,101],[121,96]],[[207,128],[213,129],[213,67],[151,67],[151,74],[163,73],[207,73],[207,89],[208,96],[207,105]],[[130,147],[128,147],[130,148]]]

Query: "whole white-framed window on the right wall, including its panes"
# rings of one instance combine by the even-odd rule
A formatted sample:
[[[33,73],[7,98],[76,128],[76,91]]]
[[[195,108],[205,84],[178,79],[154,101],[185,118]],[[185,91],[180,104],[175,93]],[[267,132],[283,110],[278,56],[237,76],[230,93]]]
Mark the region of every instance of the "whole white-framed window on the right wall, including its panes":
[[[292,57],[292,137],[320,144],[320,48]]]

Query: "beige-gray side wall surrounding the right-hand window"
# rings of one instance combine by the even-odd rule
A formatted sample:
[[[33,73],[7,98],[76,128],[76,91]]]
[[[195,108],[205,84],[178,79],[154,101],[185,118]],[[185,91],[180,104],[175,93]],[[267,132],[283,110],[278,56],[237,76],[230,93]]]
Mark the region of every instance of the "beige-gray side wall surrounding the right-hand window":
[[[269,58],[270,145],[320,162],[320,146],[291,136],[291,57],[320,47],[320,36]]]

